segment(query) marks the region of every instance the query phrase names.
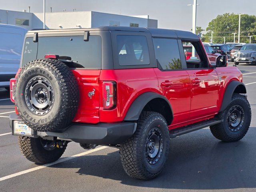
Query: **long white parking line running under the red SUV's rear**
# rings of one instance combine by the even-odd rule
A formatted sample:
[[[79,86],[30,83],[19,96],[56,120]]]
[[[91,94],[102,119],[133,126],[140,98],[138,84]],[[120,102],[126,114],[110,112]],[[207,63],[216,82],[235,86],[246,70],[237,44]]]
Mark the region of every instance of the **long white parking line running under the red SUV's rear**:
[[[34,168],[31,168],[31,169],[28,169],[28,170],[24,170],[24,171],[21,171],[21,172],[18,172],[18,173],[14,173],[14,174],[11,174],[11,175],[8,175],[8,176],[4,176],[4,177],[0,178],[0,181],[10,179],[10,178],[13,178],[13,177],[16,177],[16,176],[19,176],[19,175],[23,175],[23,174],[26,174],[26,173],[29,173],[29,172],[32,172],[32,171],[36,171],[36,170],[39,170],[39,169],[42,169],[42,168],[46,168],[46,167],[49,167],[49,166],[52,166],[52,165],[55,165],[55,164],[58,164],[58,163],[62,163],[62,162],[68,161],[70,159],[74,159],[74,158],[77,158],[77,157],[80,157],[80,156],[84,156],[84,155],[87,155],[87,154],[90,154],[90,153],[93,153],[93,152],[96,152],[96,151],[99,151],[99,150],[102,150],[102,149],[105,149],[105,148],[108,148],[108,146],[102,146],[102,147],[99,147],[99,148],[96,148],[96,149],[92,149],[90,151],[86,151],[86,152],[83,152],[83,153],[80,153],[80,154],[73,155],[71,157],[59,159],[59,160],[57,160],[53,163],[44,164],[44,165],[34,167]]]

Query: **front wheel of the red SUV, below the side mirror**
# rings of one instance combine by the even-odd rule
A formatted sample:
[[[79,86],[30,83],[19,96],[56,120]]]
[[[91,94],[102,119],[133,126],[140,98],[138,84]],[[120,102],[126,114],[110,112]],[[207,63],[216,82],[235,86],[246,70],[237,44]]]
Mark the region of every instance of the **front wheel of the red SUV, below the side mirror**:
[[[223,122],[210,126],[214,137],[225,142],[235,142],[242,139],[247,133],[252,112],[245,96],[233,94],[231,102],[225,111],[220,112],[219,118]]]

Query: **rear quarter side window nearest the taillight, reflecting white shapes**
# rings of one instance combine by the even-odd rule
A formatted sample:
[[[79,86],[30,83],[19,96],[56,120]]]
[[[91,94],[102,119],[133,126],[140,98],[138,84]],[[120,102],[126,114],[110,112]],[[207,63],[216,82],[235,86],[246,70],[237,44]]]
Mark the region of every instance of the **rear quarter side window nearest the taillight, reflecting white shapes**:
[[[116,40],[120,66],[150,64],[145,36],[118,35]]]

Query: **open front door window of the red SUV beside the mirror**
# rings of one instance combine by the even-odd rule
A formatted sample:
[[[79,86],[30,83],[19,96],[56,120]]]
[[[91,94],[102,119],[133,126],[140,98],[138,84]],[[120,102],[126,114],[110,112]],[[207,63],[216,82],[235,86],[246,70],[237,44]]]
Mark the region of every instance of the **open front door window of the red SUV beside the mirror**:
[[[207,57],[199,41],[182,41],[182,44],[188,69],[208,68]]]

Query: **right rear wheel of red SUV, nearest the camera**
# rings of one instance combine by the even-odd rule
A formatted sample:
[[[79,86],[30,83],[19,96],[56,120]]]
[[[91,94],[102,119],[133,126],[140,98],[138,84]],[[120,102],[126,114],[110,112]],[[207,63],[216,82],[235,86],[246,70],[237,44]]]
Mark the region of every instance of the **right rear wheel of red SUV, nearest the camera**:
[[[163,170],[169,154],[170,137],[166,120],[157,112],[142,112],[131,138],[120,145],[125,172],[150,180]]]

